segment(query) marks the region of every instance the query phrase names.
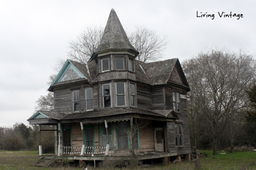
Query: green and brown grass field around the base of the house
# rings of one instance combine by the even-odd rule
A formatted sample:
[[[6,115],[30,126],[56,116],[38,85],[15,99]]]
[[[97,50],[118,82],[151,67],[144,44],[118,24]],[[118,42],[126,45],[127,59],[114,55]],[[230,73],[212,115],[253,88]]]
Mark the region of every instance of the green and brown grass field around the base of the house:
[[[202,151],[201,151],[202,152]],[[212,151],[205,151],[208,158],[201,158],[201,170],[256,170],[256,152],[235,152],[212,156]],[[84,170],[69,164],[58,164],[52,167],[34,167],[31,164],[39,158],[38,151],[0,151],[0,170]],[[136,170],[194,170],[194,161],[182,161],[180,164],[167,166],[155,165],[136,167]],[[94,169],[94,168],[88,168]],[[107,169],[96,168],[96,169]],[[130,168],[132,169],[132,168]],[[122,170],[130,170],[123,168]],[[134,168],[133,168],[134,169]],[[116,169],[117,170],[117,169]]]

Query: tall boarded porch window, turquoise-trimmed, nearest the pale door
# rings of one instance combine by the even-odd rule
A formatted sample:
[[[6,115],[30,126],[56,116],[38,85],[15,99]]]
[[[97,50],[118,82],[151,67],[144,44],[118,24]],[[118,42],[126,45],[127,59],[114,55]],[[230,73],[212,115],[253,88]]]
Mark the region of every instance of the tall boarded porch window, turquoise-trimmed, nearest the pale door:
[[[117,139],[119,149],[128,149],[127,122],[117,122]]]

